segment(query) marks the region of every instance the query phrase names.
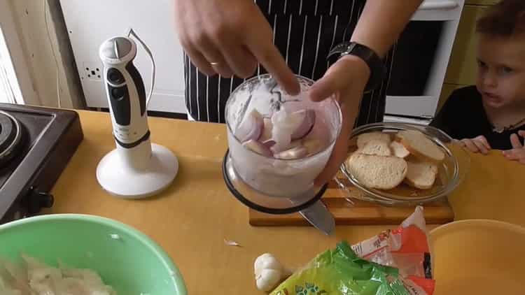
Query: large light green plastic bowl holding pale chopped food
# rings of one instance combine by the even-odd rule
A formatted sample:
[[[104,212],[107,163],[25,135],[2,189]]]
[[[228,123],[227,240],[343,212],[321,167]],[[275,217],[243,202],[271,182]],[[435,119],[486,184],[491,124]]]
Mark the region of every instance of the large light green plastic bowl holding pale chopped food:
[[[187,294],[179,269],[151,238],[102,217],[43,215],[0,225],[0,258],[21,264],[21,253],[92,269],[119,295]]]

